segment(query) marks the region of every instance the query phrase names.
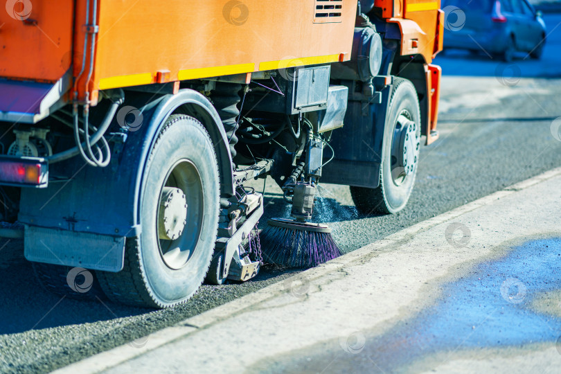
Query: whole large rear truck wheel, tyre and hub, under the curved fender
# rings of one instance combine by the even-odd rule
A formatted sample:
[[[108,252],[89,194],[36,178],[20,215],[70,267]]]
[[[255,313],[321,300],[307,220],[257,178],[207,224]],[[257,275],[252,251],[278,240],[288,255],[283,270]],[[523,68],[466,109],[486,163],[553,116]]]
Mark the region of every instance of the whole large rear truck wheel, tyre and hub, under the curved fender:
[[[125,267],[98,271],[109,299],[167,308],[190,299],[211,263],[220,208],[213,143],[195,118],[171,116],[143,175],[141,235],[127,239]]]

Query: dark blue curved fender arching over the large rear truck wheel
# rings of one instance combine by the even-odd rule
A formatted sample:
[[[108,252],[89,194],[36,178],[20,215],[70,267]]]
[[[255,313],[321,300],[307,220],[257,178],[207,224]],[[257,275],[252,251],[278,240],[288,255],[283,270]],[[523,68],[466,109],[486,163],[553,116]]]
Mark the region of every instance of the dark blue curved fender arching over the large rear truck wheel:
[[[152,94],[127,91],[121,109],[125,107],[138,109],[142,123],[134,131],[125,132],[121,145],[116,145],[119,149],[113,152],[112,163],[107,168],[84,169],[83,162],[74,157],[55,165],[73,175],[69,179],[72,183],[64,184],[64,188],[50,184],[40,190],[22,190],[19,219],[23,224],[121,238],[140,235],[139,202],[146,161],[161,127],[172,114],[185,113],[203,123],[218,158],[220,193],[233,194],[226,133],[216,110],[202,94],[184,89],[175,95],[154,98]],[[115,119],[112,129],[120,128],[117,122]],[[100,194],[105,197],[103,204],[98,201]],[[82,214],[76,222],[70,222],[68,217],[76,211],[76,206],[82,207]],[[100,216],[108,220],[95,219]]]

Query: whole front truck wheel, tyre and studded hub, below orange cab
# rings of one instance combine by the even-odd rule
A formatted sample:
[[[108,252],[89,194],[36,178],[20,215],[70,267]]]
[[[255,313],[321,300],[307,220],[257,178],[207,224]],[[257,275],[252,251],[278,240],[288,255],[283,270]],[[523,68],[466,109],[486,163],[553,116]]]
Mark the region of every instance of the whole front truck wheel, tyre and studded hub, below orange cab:
[[[350,187],[360,213],[368,215],[402,211],[415,184],[419,150],[420,108],[417,91],[409,80],[394,78],[384,126],[380,185],[377,188]]]

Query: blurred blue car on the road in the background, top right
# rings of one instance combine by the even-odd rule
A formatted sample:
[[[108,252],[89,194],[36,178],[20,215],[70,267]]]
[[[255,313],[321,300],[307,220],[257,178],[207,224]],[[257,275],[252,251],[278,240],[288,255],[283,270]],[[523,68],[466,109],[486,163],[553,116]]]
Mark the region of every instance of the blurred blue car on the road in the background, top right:
[[[542,56],[545,23],[526,0],[443,0],[442,8],[445,48],[483,51],[506,62],[516,51]]]

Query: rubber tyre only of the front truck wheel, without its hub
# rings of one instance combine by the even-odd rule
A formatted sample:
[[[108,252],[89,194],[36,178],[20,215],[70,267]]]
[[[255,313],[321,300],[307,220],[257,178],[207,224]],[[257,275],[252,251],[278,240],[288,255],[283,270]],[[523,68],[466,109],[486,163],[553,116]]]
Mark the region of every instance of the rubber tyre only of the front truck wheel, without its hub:
[[[384,126],[384,143],[382,145],[382,165],[380,166],[380,185],[377,188],[350,187],[350,194],[357,211],[363,215],[373,213],[393,214],[402,211],[407,205],[417,174],[415,168],[412,175],[408,175],[404,184],[396,186],[391,176],[391,143],[398,116],[404,109],[413,116],[417,124],[417,134],[420,136],[420,107],[417,91],[409,80],[393,78],[393,90],[390,107]]]

